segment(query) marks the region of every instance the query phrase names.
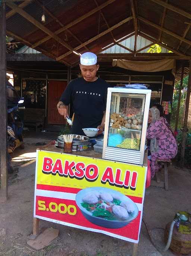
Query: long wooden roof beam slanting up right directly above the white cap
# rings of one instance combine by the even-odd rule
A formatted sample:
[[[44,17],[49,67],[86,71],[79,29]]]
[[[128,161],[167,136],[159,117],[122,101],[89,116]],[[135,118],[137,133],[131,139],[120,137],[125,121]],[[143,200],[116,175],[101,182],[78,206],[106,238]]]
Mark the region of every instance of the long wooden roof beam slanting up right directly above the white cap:
[[[123,19],[118,24],[115,24],[113,27],[108,28],[107,30],[101,32],[97,36],[94,36],[91,39],[87,40],[86,42],[82,43],[81,45],[78,45],[76,48],[74,48],[74,50],[78,51],[78,49],[82,48],[85,45],[88,45],[88,43],[91,43],[91,42],[95,41],[99,37],[104,36],[105,34],[109,33],[110,31],[114,30],[115,28],[117,28],[117,27],[123,25],[124,23],[128,22],[130,19],[132,19],[132,16],[130,16],[130,17],[126,18],[126,19]],[[71,53],[72,53],[72,51],[66,52],[65,54],[62,54],[61,56],[59,56],[56,60],[61,60],[62,58],[68,56]]]

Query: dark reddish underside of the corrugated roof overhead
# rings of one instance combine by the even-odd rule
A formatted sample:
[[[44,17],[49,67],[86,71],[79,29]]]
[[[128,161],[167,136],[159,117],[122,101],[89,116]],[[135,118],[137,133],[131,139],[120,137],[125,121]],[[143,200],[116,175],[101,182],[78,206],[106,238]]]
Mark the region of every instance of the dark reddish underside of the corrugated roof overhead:
[[[33,0],[24,7],[24,11],[39,22],[41,22],[43,7],[39,6],[39,4],[37,4],[38,2],[41,4],[44,3],[48,11],[55,16],[55,18],[51,18],[51,15],[45,13],[46,23],[43,25],[60,37],[60,40],[62,40],[61,43],[55,35],[51,38],[50,36],[47,37],[49,33],[45,33],[42,27],[38,28],[40,26],[37,27],[29,22],[27,18],[23,18],[21,16],[21,10],[18,10],[18,12],[21,12],[21,15],[15,13],[7,18],[6,28],[11,32],[10,36],[15,34],[15,38],[18,38],[17,36],[22,37],[24,41],[29,42],[25,42],[29,47],[35,44],[37,51],[41,51],[49,57],[57,59],[67,65],[72,66],[79,61],[79,55],[73,54],[73,49],[79,51],[79,53],[83,53],[87,51],[88,48],[90,51],[99,53],[102,51],[103,47],[115,42],[115,40],[118,41],[120,38],[135,30],[130,0],[97,0],[99,7],[104,4],[104,7],[101,8],[101,12],[104,14],[107,24],[101,16],[100,8],[97,7],[95,1],[90,0]],[[154,41],[159,40],[160,31],[163,27],[168,30],[168,32],[162,32],[160,42],[164,42],[169,48],[175,49],[177,49],[181,43],[178,50],[179,53],[184,54],[185,52],[186,55],[191,55],[191,47],[189,49],[191,45],[191,30],[188,31],[185,39],[183,38],[181,40],[181,37],[188,27],[188,24],[185,22],[190,22],[191,19],[190,0],[169,0],[168,4],[171,4],[172,8],[167,7],[163,26],[161,26],[161,22],[165,8],[162,5],[166,4],[166,1],[154,2],[153,0],[137,0],[135,2],[137,3],[135,9],[138,19],[138,32],[141,33],[141,36],[144,37],[145,35],[147,39],[149,39],[148,36],[152,37]],[[19,5],[22,2],[15,1],[15,3]],[[13,6],[14,9],[14,4],[10,3],[10,1],[7,1],[6,4],[7,6]],[[173,7],[179,8],[180,13],[184,10],[187,14],[180,14],[174,11]],[[6,13],[10,10],[11,8],[7,7]],[[61,33],[56,32],[62,28],[62,24],[56,22],[55,19],[59,19],[64,26],[68,26],[74,36],[68,32],[65,33],[62,29]],[[108,30],[108,26],[113,27],[112,34]],[[100,35],[100,33],[102,34]],[[7,35],[9,34],[7,33]],[[76,39],[76,37],[78,37],[78,39]],[[42,42],[44,38],[48,39]],[[147,43],[150,44],[151,39],[147,39],[143,39],[139,36],[137,38],[137,49],[146,46]],[[20,38],[18,40],[21,42]],[[134,37],[126,41],[124,40],[121,44],[133,50]],[[147,52],[147,50],[148,49],[145,49],[142,52]],[[126,54],[129,51],[120,48],[120,46],[115,46],[107,52]],[[165,52],[168,52],[168,50],[162,49],[162,53]],[[174,55],[177,55],[177,51]]]

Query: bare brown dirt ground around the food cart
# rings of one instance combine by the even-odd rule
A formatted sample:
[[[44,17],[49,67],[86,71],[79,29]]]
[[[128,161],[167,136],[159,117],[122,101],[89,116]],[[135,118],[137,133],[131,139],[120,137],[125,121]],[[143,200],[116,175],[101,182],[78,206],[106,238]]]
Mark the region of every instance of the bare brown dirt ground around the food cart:
[[[40,228],[59,229],[59,238],[51,246],[34,251],[27,246],[32,233],[35,151],[38,145],[56,138],[56,133],[30,133],[25,136],[25,149],[16,149],[12,164],[17,168],[9,175],[9,200],[0,207],[0,256],[130,256],[132,244],[107,235],[40,221]],[[175,166],[169,168],[169,191],[149,187],[145,193],[144,220],[156,247],[162,251],[165,225],[177,211],[191,212],[191,172]],[[151,243],[142,223],[138,256],[172,256],[160,253]]]

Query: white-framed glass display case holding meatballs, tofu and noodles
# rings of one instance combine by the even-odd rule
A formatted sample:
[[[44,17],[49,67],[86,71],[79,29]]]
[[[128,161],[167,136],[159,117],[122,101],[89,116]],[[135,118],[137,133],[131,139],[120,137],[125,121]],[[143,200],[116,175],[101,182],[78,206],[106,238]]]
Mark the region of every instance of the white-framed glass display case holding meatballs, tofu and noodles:
[[[108,88],[103,159],[143,165],[151,90]]]

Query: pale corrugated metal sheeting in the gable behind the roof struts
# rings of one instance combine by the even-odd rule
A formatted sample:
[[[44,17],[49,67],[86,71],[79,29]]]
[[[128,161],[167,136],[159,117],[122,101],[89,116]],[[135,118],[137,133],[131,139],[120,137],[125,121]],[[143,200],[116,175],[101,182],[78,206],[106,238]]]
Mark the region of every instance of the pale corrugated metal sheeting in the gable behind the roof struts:
[[[134,51],[134,43],[135,43],[135,36],[131,36],[128,39],[120,42],[121,45],[131,49]],[[152,42],[150,40],[145,39],[142,36],[137,37],[137,50],[150,45]],[[154,45],[154,43],[153,43]],[[143,51],[140,51],[140,53],[146,53],[150,47],[144,49]],[[169,50],[165,49],[164,47],[161,48],[161,53],[167,53]],[[101,52],[101,53],[131,53],[130,51],[126,50],[125,48],[122,48],[119,45],[113,45],[109,49]]]

